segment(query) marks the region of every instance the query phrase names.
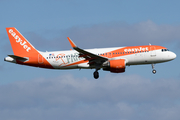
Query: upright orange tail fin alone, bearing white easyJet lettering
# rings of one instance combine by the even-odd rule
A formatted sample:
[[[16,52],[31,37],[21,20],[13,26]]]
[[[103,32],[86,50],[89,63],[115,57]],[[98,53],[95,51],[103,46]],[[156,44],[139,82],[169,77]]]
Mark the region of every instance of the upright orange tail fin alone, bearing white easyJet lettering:
[[[17,56],[28,56],[37,53],[37,50],[26,40],[26,38],[14,27],[6,28],[7,34],[14,52]]]

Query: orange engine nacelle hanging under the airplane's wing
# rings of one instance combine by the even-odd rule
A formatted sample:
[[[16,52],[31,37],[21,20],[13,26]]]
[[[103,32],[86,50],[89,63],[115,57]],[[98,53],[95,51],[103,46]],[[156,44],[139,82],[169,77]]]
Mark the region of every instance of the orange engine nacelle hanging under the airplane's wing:
[[[125,59],[110,60],[103,64],[103,70],[113,73],[125,72],[126,62]]]

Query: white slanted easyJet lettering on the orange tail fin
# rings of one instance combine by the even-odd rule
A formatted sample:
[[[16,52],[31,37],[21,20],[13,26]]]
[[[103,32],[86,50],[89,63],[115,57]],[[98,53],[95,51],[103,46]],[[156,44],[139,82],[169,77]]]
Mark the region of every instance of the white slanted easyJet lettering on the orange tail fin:
[[[23,41],[12,29],[9,30],[9,33],[16,39],[16,42],[19,43],[27,52],[31,50],[31,47],[27,45],[26,41]]]

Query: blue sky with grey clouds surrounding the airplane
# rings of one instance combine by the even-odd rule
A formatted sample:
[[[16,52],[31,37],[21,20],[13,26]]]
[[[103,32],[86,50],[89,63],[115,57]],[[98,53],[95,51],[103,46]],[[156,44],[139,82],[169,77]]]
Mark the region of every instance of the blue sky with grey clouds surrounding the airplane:
[[[179,120],[179,0],[0,0],[0,118],[3,120]],[[13,54],[6,27],[40,51],[161,45],[167,63],[113,74],[48,70],[3,59]]]

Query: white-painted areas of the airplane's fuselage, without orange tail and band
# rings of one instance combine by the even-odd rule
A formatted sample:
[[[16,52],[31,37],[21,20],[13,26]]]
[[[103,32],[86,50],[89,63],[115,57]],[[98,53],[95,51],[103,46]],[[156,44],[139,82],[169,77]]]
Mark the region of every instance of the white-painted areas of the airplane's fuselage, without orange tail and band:
[[[123,48],[123,47],[122,47]],[[134,54],[125,54],[123,53],[111,53],[110,55],[105,55],[105,53],[121,49],[121,47],[116,48],[101,48],[101,49],[85,49],[88,52],[91,52],[96,55],[103,55],[109,60],[115,59],[125,59],[126,65],[140,65],[140,64],[155,64],[161,62],[167,62],[173,60],[176,55],[171,51],[146,51],[139,52]],[[79,57],[79,53],[75,50],[70,51],[52,51],[52,52],[41,52],[44,58],[55,68],[55,69],[76,69],[76,68],[92,68],[88,61],[85,61],[83,57]],[[114,57],[114,54],[117,56]],[[118,56],[119,54],[119,56]],[[43,61],[39,60],[43,63]],[[76,64],[77,63],[77,64]]]

